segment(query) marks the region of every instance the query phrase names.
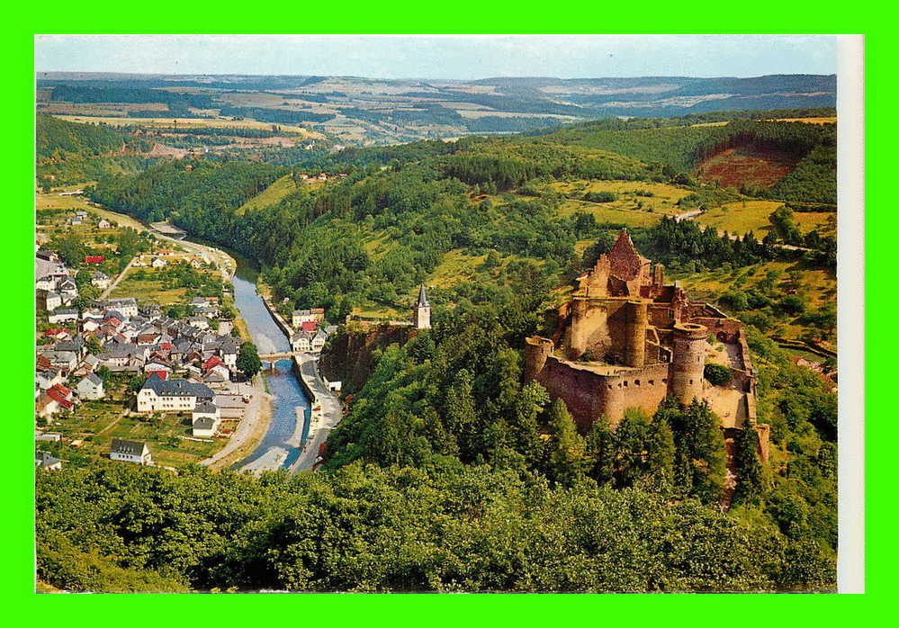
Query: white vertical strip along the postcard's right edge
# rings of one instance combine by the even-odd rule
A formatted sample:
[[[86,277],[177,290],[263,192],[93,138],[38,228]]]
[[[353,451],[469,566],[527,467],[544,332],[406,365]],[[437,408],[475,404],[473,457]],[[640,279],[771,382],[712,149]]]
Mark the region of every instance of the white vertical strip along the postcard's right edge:
[[[865,592],[865,40],[837,36],[837,588]]]

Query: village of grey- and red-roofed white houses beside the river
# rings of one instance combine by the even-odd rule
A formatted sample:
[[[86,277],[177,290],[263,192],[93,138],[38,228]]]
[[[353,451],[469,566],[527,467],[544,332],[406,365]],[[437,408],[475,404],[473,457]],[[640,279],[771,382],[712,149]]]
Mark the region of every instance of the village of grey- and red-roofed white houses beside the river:
[[[110,229],[109,220],[86,211],[67,225]],[[133,256],[115,279],[90,270],[98,257],[72,267],[49,248],[35,253],[36,464],[60,468],[54,453],[61,447],[169,469],[234,462],[238,445],[258,435],[253,427],[264,422],[270,395],[256,375],[256,348],[241,337],[231,286],[214,278],[202,256],[159,243]],[[176,268],[190,274],[193,290],[159,285]],[[125,296],[131,287],[138,292]],[[211,287],[215,296],[201,294]],[[295,330],[293,351],[318,354],[336,330],[324,321],[321,308],[294,311],[285,325]]]

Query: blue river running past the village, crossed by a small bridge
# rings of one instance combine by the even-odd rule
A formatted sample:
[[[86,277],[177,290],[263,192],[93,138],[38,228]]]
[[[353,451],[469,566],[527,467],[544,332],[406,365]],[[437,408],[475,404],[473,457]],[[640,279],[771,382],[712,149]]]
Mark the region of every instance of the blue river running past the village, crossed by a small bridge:
[[[290,351],[290,340],[265,309],[262,298],[256,293],[256,269],[246,259],[238,259],[238,270],[231,283],[234,285],[234,305],[240,317],[247,322],[247,329],[260,354]],[[264,374],[268,391],[274,396],[272,420],[259,445],[246,459],[234,465],[234,469],[265,471],[287,468],[297,460],[301,444],[309,435],[310,401],[292,369],[291,360],[278,360],[275,371]],[[297,425],[296,408],[302,408],[303,425]],[[301,428],[301,439],[295,437]]]

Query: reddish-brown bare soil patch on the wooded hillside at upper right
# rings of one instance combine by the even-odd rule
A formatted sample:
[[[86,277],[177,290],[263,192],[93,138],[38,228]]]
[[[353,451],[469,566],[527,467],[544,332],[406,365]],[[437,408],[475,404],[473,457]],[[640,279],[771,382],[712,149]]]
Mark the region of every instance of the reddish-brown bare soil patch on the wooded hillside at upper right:
[[[722,187],[770,187],[793,172],[798,160],[785,152],[752,145],[727,148],[703,161],[697,174]]]

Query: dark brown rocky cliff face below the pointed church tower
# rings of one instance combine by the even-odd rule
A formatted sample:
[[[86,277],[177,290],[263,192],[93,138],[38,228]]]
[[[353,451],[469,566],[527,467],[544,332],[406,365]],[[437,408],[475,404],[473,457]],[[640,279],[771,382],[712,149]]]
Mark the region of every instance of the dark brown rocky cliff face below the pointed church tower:
[[[364,386],[374,371],[373,352],[389,345],[405,345],[414,327],[379,325],[367,329],[341,327],[321,352],[319,368],[328,381],[342,381],[344,394]]]

